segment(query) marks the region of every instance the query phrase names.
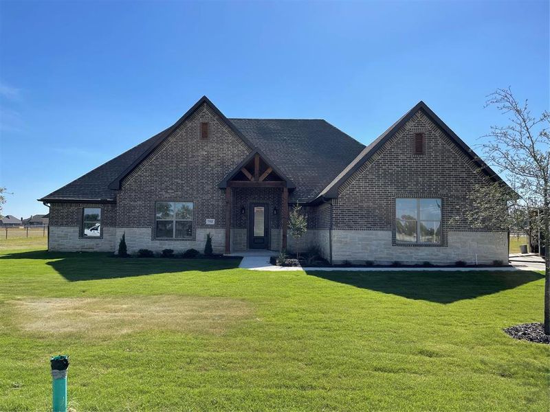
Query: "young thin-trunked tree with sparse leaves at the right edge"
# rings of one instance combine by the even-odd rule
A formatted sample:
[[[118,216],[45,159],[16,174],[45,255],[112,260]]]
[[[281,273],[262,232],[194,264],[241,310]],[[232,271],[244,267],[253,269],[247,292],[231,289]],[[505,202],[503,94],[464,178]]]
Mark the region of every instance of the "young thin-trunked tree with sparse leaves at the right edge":
[[[509,88],[498,89],[487,98],[485,107],[494,106],[508,115],[509,124],[492,126],[481,146],[487,163],[511,182],[515,193],[505,185],[479,187],[473,195],[477,216],[470,220],[498,218],[508,228],[525,227],[533,216],[530,212],[540,212],[538,221],[531,219],[530,224],[544,233],[544,334],[550,335],[550,113],[532,115],[527,100],[518,102]]]

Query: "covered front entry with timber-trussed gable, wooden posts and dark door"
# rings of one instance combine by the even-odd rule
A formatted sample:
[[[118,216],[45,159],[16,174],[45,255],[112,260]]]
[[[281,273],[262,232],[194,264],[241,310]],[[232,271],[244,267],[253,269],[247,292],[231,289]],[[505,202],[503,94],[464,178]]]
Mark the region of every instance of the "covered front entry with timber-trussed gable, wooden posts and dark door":
[[[292,181],[252,152],[220,183],[225,189],[225,253],[235,249],[286,249]]]

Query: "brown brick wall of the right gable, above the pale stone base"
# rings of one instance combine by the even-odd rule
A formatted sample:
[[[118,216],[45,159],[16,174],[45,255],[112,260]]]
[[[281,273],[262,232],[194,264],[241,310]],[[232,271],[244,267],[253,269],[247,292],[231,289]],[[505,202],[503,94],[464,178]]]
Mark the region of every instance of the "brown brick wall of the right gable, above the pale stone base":
[[[424,133],[423,155],[414,154],[415,133]],[[468,195],[483,181],[476,165],[419,111],[340,187],[333,229],[395,232],[395,198],[430,197],[442,199],[443,244],[449,230],[501,230],[473,229],[464,220],[450,224],[472,207]]]

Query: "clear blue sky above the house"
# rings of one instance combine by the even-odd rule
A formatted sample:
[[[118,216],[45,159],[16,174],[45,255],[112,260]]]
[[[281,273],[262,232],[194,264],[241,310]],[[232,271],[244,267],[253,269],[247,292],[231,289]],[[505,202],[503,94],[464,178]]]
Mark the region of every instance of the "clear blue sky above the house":
[[[228,117],[324,118],[364,144],[419,100],[467,144],[511,86],[549,106],[548,1],[0,1],[6,214],[166,128],[202,95]]]

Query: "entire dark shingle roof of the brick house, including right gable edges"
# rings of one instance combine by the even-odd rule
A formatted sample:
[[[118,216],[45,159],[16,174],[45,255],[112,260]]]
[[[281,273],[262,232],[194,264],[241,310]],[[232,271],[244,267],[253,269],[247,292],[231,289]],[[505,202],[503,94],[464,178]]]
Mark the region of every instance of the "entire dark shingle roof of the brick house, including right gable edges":
[[[164,141],[201,104],[208,104],[219,117],[267,163],[285,174],[296,185],[292,201],[320,201],[338,196],[338,187],[388,141],[417,111],[422,110],[492,180],[500,177],[433,113],[419,102],[373,143],[365,147],[338,128],[315,119],[227,119],[203,96],[175,124],[138,144],[122,155],[100,165],[41,201],[114,201],[120,182],[152,150]],[[228,173],[231,171],[228,170]]]

